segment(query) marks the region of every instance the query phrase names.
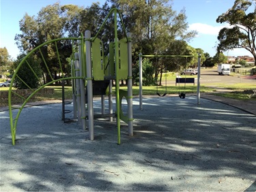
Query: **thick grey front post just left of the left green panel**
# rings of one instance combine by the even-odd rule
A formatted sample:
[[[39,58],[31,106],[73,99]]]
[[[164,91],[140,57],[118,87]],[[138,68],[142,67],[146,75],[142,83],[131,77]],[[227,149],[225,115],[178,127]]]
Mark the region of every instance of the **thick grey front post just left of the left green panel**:
[[[88,101],[88,129],[89,139],[94,140],[94,106],[92,93],[91,76],[91,32],[85,31],[85,50],[86,50],[86,71],[87,71],[87,101]]]

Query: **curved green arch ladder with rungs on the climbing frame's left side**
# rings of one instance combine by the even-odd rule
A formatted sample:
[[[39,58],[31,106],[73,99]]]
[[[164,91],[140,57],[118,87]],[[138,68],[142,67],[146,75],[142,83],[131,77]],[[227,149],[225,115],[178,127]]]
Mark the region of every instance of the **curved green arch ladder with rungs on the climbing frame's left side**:
[[[31,50],[31,52],[29,52],[29,54],[27,54],[22,61],[20,61],[18,67],[16,67],[14,75],[12,77],[12,80],[10,82],[10,88],[9,88],[9,94],[8,94],[8,106],[9,106],[9,112],[10,112],[10,127],[11,127],[11,134],[12,134],[12,144],[15,144],[15,140],[16,140],[16,127],[17,127],[17,123],[18,123],[18,118],[20,116],[20,112],[23,110],[23,108],[25,107],[26,103],[36,94],[38,93],[38,91],[40,91],[41,89],[44,89],[45,86],[48,86],[50,84],[53,84],[55,82],[59,82],[61,80],[72,80],[72,79],[81,79],[84,78],[84,76],[79,76],[79,77],[74,77],[74,76],[63,76],[63,67],[62,67],[62,63],[61,63],[61,57],[59,55],[59,48],[57,46],[57,42],[63,42],[63,41],[71,41],[72,44],[74,44],[74,42],[79,42],[81,45],[81,47],[83,48],[83,44],[84,44],[84,40],[83,37],[63,37],[63,38],[59,38],[59,39],[53,39],[51,41],[45,42],[44,44],[41,44],[40,46],[34,48],[33,50]],[[46,62],[46,58],[44,57],[44,54],[42,54],[42,49],[47,48],[47,47],[55,47],[55,56],[57,58],[58,61],[58,65],[59,65],[59,70],[60,70],[60,74],[62,74],[61,78],[55,80],[53,78],[53,76],[51,75],[51,72],[49,70],[49,64]],[[72,50],[70,50],[70,52],[72,52],[72,60],[74,60],[74,46],[72,46]],[[50,82],[47,82],[46,84],[40,86],[38,89],[31,89],[31,87],[26,84],[26,82],[20,78],[18,76],[18,71],[20,69],[21,66],[23,65],[27,65],[26,68],[27,70],[29,70],[37,79],[40,79],[35,71],[33,71],[33,68],[31,67],[31,64],[28,62],[29,57],[32,57],[34,54],[38,54],[40,55],[43,65],[46,68],[46,70],[48,71],[48,74],[51,78]],[[27,86],[27,89],[29,89],[29,96],[25,97],[22,94],[18,94],[18,92],[14,91],[14,79],[18,78],[21,82],[23,82],[23,84],[25,84],[25,86]],[[18,97],[20,98],[23,102],[22,104],[20,104],[20,106],[17,108],[16,105],[12,104],[14,99]],[[14,112],[13,110],[18,110],[16,116],[14,116]]]

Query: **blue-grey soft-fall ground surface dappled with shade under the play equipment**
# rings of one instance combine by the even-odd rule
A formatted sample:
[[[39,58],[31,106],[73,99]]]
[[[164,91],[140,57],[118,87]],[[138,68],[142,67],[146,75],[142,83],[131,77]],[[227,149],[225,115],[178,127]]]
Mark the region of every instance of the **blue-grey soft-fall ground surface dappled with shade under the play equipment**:
[[[12,146],[3,110],[0,191],[256,191],[255,103],[210,97],[144,97],[142,111],[134,98],[134,135],[122,124],[120,145],[115,121],[95,121],[91,141],[53,102],[23,109]]]

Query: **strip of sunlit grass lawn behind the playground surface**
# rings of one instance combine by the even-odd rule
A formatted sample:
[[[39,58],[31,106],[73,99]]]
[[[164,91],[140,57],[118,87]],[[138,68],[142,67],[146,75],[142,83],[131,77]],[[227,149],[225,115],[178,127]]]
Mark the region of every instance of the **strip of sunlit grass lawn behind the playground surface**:
[[[211,87],[209,84],[207,86],[201,85],[200,92],[201,93],[212,93],[215,95],[220,95],[222,97],[229,97],[232,99],[240,99],[240,100],[249,100],[256,99],[250,98],[251,94],[245,94],[244,91],[255,89],[255,84],[246,84],[246,83],[238,83],[238,84],[218,84],[219,88],[223,89],[231,89],[230,93],[216,93],[216,87]],[[39,94],[37,93],[34,98],[29,101],[46,101],[53,99],[61,99],[62,98],[62,88],[61,86],[46,86],[46,88],[53,88],[53,94]],[[126,86],[120,86],[120,89],[126,90]],[[0,91],[8,91],[8,87],[1,87]],[[65,99],[72,99],[72,87],[65,86]],[[167,90],[167,91],[166,91]],[[143,86],[143,95],[156,95],[158,92],[160,95],[164,94],[165,91],[167,94],[179,94],[179,93],[197,93],[197,86],[186,85],[183,84],[181,86]],[[133,95],[139,95],[139,86],[132,87]],[[115,87],[113,87],[113,93],[115,93]],[[8,98],[0,99],[0,107],[8,106]],[[18,97],[12,98],[12,104],[23,103],[24,99],[20,99]]]

